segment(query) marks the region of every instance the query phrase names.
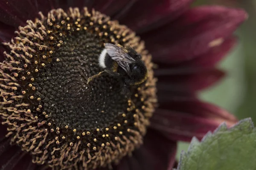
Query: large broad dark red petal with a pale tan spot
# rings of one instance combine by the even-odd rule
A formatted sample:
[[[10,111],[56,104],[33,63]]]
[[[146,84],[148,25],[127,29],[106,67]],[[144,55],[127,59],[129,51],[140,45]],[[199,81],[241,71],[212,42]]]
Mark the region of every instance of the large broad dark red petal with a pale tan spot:
[[[143,35],[142,39],[155,61],[187,61],[221,45],[246,18],[246,12],[241,9],[193,8],[175,22]]]

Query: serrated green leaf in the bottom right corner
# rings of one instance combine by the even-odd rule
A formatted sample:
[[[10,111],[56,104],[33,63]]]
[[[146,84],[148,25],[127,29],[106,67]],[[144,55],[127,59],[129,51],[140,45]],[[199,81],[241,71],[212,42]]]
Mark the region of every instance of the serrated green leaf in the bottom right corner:
[[[221,124],[201,142],[193,138],[181,152],[177,170],[256,170],[256,128],[250,118],[227,128]]]

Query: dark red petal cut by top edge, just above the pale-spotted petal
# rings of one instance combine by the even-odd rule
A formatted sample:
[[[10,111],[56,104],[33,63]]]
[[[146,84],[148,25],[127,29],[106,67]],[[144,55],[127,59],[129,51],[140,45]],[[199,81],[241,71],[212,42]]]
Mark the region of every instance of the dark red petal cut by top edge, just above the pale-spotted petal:
[[[120,23],[132,30],[144,32],[162,26],[189,8],[193,0],[139,0]]]

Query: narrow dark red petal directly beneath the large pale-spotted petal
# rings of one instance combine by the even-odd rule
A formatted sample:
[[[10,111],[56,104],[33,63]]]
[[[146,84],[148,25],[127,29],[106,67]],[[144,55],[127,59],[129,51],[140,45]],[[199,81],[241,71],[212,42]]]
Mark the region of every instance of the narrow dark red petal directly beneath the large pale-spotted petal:
[[[154,75],[157,77],[164,75],[183,75],[209,70],[227,55],[230,49],[236,45],[236,42],[235,37],[230,37],[222,45],[210,49],[206,54],[178,64],[155,62],[158,65],[158,69],[154,71]]]

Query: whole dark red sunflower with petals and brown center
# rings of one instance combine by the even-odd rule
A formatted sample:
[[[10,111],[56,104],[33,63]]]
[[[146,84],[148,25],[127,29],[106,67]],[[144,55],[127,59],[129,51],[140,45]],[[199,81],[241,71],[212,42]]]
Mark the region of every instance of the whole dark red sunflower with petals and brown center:
[[[241,9],[192,0],[0,0],[1,170],[168,170],[177,141],[236,117],[197,92],[236,43]],[[120,93],[105,43],[131,46],[145,83]]]

